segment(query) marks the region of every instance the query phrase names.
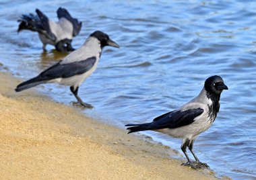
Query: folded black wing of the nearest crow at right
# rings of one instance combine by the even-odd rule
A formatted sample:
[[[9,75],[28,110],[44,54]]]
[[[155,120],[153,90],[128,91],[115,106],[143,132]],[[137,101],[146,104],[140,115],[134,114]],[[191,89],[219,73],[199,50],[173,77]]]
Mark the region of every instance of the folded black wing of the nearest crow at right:
[[[152,130],[162,129],[162,128],[179,128],[182,126],[187,126],[195,121],[197,116],[203,113],[203,109],[187,109],[185,111],[177,110],[170,111],[162,116],[154,119],[154,121],[148,127]]]

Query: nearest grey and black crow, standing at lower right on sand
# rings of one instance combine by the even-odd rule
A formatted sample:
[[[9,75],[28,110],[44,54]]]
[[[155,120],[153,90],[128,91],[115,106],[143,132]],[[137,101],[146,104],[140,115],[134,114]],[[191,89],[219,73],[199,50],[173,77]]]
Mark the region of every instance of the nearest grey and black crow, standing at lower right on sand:
[[[209,77],[206,79],[201,93],[189,103],[155,118],[153,122],[127,124],[126,126],[131,126],[127,128],[128,133],[153,130],[174,138],[183,138],[181,150],[187,158],[187,163],[183,163],[183,165],[195,169],[208,167],[207,164],[201,163],[193,152],[193,143],[199,134],[212,126],[220,109],[220,94],[224,89],[228,89],[228,87],[220,76]],[[189,159],[187,148],[193,154],[195,162]]]

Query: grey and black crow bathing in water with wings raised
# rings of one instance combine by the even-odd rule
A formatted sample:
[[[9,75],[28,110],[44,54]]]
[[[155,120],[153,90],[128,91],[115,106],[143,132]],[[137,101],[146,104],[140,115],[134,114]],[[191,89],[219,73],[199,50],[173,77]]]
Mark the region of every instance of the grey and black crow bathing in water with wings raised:
[[[44,50],[46,44],[51,44],[61,52],[72,51],[74,50],[71,46],[72,39],[79,34],[82,22],[71,17],[67,9],[61,7],[57,10],[57,16],[59,21],[51,21],[42,11],[36,9],[36,15],[30,13],[18,19],[20,22],[18,32],[22,30],[38,32]]]

